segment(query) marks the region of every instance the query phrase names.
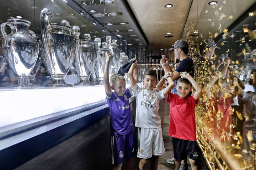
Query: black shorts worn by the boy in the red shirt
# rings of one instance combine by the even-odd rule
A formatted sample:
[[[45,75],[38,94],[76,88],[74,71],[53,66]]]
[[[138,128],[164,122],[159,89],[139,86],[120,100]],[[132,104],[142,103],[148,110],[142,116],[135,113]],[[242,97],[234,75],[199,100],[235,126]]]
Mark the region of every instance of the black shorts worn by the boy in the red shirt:
[[[172,146],[174,148],[174,158],[176,160],[184,160],[186,151],[190,159],[198,159],[199,147],[196,141],[187,141],[172,137]]]

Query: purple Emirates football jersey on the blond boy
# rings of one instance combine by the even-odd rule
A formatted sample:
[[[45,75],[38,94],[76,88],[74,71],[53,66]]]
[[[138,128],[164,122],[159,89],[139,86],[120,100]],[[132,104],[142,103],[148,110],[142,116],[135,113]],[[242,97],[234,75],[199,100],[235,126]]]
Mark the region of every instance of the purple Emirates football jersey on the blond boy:
[[[129,89],[126,89],[123,96],[118,96],[112,91],[111,97],[106,97],[110,110],[112,136],[125,135],[134,131],[129,103],[131,96]]]

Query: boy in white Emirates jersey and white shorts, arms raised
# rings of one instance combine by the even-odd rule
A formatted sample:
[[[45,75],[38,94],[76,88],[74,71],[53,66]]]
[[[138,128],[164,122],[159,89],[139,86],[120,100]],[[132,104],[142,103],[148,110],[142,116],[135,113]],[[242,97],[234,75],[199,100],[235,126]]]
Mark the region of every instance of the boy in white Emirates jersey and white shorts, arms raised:
[[[157,74],[154,70],[147,70],[142,80],[144,87],[140,88],[133,77],[133,70],[136,67],[137,63],[133,63],[128,75],[137,104],[135,126],[138,127],[137,157],[141,158],[139,169],[142,170],[151,157],[151,169],[157,169],[159,155],[165,152],[161,119],[158,114],[159,103],[174,87],[174,82],[171,79],[172,73],[167,72],[163,78],[168,80],[169,85],[161,91],[153,90],[157,83]]]

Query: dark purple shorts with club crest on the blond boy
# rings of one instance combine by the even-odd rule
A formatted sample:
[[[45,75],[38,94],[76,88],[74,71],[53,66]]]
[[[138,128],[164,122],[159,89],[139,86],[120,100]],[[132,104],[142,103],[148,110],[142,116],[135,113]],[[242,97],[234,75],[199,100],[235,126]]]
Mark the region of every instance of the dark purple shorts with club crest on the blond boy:
[[[125,159],[133,158],[137,154],[134,132],[126,135],[111,136],[112,164],[118,165]]]

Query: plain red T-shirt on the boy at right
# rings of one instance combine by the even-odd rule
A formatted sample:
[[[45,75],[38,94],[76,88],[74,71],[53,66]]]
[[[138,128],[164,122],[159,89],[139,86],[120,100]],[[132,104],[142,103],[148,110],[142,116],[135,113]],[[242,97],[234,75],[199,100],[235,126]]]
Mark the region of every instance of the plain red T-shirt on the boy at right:
[[[194,108],[198,104],[198,100],[196,101],[193,95],[182,98],[169,92],[167,102],[170,104],[168,135],[183,140],[196,141]]]

